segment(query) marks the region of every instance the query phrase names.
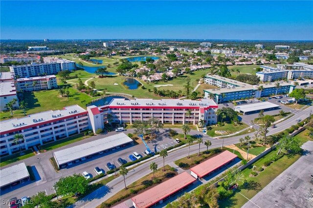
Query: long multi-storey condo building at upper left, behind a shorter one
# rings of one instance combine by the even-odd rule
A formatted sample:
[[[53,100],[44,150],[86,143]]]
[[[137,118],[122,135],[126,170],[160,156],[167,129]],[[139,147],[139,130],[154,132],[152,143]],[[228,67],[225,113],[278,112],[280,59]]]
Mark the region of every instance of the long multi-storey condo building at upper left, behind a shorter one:
[[[19,78],[53,75],[62,71],[61,63],[32,63],[28,65],[10,66],[10,71]]]

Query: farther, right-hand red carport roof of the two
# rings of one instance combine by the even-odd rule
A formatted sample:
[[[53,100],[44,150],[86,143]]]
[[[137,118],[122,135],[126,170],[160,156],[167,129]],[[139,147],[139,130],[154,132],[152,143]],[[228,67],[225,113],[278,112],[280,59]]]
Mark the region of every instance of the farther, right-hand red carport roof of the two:
[[[230,151],[224,151],[221,154],[212,157],[203,163],[199,164],[198,166],[194,166],[190,168],[190,170],[196,173],[200,178],[206,176],[210,172],[218,169],[221,166],[229,163],[233,159],[235,159],[237,155],[231,153]]]

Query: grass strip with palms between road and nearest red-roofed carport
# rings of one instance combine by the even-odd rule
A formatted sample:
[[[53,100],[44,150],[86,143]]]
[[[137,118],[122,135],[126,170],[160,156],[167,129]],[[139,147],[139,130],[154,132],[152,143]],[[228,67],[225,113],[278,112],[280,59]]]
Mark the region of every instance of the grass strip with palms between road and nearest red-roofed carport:
[[[169,165],[165,166],[165,171],[163,172],[163,166],[162,166],[155,171],[155,178],[158,180],[158,183],[156,184],[164,182],[165,180],[172,178],[176,174],[177,173],[175,171],[171,170],[171,166]],[[126,190],[125,188],[123,188],[122,190],[117,192],[114,196],[109,198],[107,201],[102,203],[102,205],[98,206],[97,208],[100,208],[101,206],[104,206],[105,204],[109,204],[110,206],[112,206],[113,204],[116,204],[120,202],[121,200],[125,200],[126,198],[130,198],[134,196],[138,191],[142,191],[144,189],[147,189],[148,187],[150,188],[156,185],[153,183],[152,172],[140,178],[139,180],[133,182],[132,184],[128,185],[129,183],[131,183],[131,181],[126,180],[126,186],[127,186]]]

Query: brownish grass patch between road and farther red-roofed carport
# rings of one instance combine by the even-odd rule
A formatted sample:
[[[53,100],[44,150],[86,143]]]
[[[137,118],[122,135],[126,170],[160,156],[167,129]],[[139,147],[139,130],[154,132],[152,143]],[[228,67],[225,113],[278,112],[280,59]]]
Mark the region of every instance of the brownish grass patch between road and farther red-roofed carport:
[[[174,161],[174,163],[181,167],[182,169],[189,169],[192,166],[195,166],[197,164],[200,164],[201,162],[213,157],[214,155],[217,155],[218,153],[221,153],[222,149],[221,148],[215,148],[215,149],[210,149],[208,152],[202,151],[200,152],[200,156],[198,156],[198,153],[190,155],[190,157],[184,157],[180,158],[177,161]]]

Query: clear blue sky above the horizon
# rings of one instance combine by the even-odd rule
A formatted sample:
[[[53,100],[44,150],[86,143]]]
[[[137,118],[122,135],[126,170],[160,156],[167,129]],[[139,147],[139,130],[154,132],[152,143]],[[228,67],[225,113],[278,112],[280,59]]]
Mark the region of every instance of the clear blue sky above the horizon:
[[[313,40],[313,1],[3,1],[1,39]]]

